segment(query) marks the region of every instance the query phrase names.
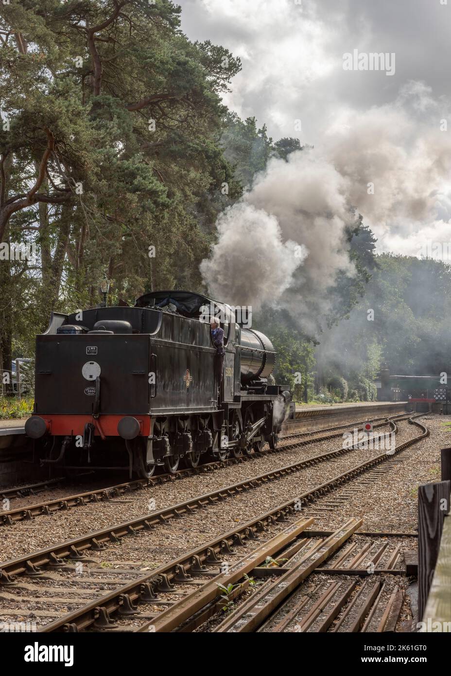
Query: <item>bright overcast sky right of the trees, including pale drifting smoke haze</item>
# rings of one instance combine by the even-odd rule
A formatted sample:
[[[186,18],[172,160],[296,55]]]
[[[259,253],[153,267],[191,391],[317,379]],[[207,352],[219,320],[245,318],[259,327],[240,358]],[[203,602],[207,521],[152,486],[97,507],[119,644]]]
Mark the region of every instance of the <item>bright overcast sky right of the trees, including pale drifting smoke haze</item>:
[[[242,59],[225,103],[274,139],[314,144],[344,176],[379,251],[451,242],[451,0],[179,3],[188,38]],[[394,53],[394,74],[344,70],[354,49]]]

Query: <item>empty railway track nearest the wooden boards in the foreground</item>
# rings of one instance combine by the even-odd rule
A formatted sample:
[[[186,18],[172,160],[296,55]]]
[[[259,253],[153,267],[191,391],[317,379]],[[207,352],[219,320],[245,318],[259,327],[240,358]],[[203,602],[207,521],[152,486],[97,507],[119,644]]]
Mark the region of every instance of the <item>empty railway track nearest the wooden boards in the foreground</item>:
[[[394,453],[395,456],[404,452],[404,450],[410,448],[411,445],[429,434],[429,431],[421,423],[412,419],[409,422],[419,427],[421,434],[398,445]],[[2,583],[0,589],[3,592],[0,596],[2,600],[8,597],[9,604],[6,615],[17,617],[20,609],[15,606],[21,602],[30,602],[33,594],[38,594],[41,600],[47,596],[46,608],[50,608],[50,610],[35,610],[34,614],[43,620],[46,617],[48,619],[53,618],[53,621],[43,627],[44,631],[76,631],[86,630],[91,627],[94,629],[111,629],[115,624],[115,621],[111,619],[111,615],[117,614],[122,619],[124,617],[132,618],[137,614],[134,604],[142,602],[150,604],[147,607],[151,608],[151,611],[144,611],[144,616],[145,612],[147,612],[151,617],[142,617],[142,612],[138,612],[138,614],[140,614],[141,619],[149,619],[149,622],[151,622],[149,627],[153,627],[155,626],[154,616],[157,614],[157,617],[160,617],[161,608],[172,608],[181,600],[180,595],[182,595],[182,598],[187,597],[193,587],[196,590],[200,589],[203,578],[213,577],[211,568],[209,569],[208,566],[213,566],[217,570],[218,566],[223,562],[224,556],[232,556],[234,547],[239,548],[242,544],[246,543],[250,544],[251,547],[255,546],[257,541],[260,542],[261,539],[267,537],[265,535],[266,529],[272,529],[276,525],[280,527],[280,525],[288,523],[288,531],[290,533],[292,533],[290,529],[294,528],[296,530],[296,527],[302,524],[303,530],[307,529],[313,523],[313,518],[303,514],[303,518],[299,520],[299,509],[304,510],[304,506],[342,487],[344,483],[354,481],[354,479],[360,477],[363,473],[388,461],[389,458],[390,456],[381,454],[354,466],[342,475],[309,489],[309,491],[301,496],[280,504],[273,510],[254,518],[233,531],[221,534],[215,541],[211,541],[205,546],[193,550],[193,552],[189,552],[178,559],[163,564],[158,569],[149,571],[145,575],[142,575],[142,571],[130,568],[126,570],[115,569],[109,573],[99,567],[98,561],[97,563],[94,561],[94,565],[86,569],[89,575],[86,575],[86,577],[83,575],[77,576],[76,573],[74,574],[74,564],[68,564],[63,558],[86,566],[89,563],[86,554],[98,557],[100,552],[103,553],[108,543],[115,543],[125,535],[137,535],[147,529],[154,529],[155,527],[159,527],[159,525],[167,523],[172,518],[183,518],[184,515],[192,514],[207,506],[214,506],[217,502],[228,500],[234,495],[240,495],[243,491],[251,490],[257,487],[257,485],[262,485],[265,481],[261,479],[260,482],[257,482],[256,479],[259,479],[259,477],[255,477],[253,480],[242,482],[242,484],[235,485],[234,487],[226,487],[205,496],[199,496],[187,502],[159,510],[159,512],[153,512],[138,519],[113,525],[101,531],[88,533],[56,546],[50,546],[44,550],[32,552],[20,558],[4,562],[0,564],[0,583]],[[282,476],[280,475],[280,478]],[[358,527],[356,526],[354,530]],[[255,564],[255,567],[260,566]],[[188,575],[192,574],[200,575],[200,579],[188,577]],[[214,575],[216,574],[214,573]],[[114,577],[111,578],[111,575]],[[14,576],[21,577],[17,580],[14,579]],[[23,580],[27,578],[32,578],[32,583],[24,583]],[[98,593],[99,580],[103,580],[103,589],[111,585],[112,588],[107,594]],[[174,589],[172,585],[173,580],[180,583],[182,587]],[[49,584],[51,585],[52,583],[55,583],[55,587],[49,587]],[[11,589],[14,589],[14,585],[16,584],[22,587],[23,590],[30,592],[32,596],[27,598],[24,596],[24,591],[21,592],[22,596],[14,595]],[[92,585],[97,585],[96,589],[93,589]],[[59,589],[60,596],[56,596],[57,589]],[[61,597],[61,590],[64,591],[64,589],[66,589],[66,596]],[[67,591],[68,589],[70,589],[70,592]],[[159,598],[159,594],[163,592],[169,594],[169,598]],[[379,592],[381,592],[381,589]],[[78,608],[72,610],[72,612],[64,612],[64,610],[61,610],[61,606],[67,610],[71,595],[72,605],[76,605]],[[77,600],[74,600],[74,595]],[[84,603],[86,596],[90,596],[88,603]],[[80,600],[80,597],[82,600]],[[217,601],[215,601],[215,604],[217,605]],[[0,609],[0,615],[4,614],[3,610]],[[149,628],[143,630],[148,631]],[[160,629],[157,628],[155,631],[160,631]]]

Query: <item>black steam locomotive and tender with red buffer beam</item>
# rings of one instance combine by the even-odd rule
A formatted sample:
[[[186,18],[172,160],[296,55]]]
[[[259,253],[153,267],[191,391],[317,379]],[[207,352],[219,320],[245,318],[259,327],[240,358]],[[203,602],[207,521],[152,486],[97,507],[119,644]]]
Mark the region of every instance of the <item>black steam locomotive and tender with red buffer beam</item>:
[[[209,318],[221,323],[223,377]],[[134,307],[51,314],[36,337],[34,458],[62,468],[127,468],[142,478],[183,458],[224,460],[277,444],[290,391],[267,381],[271,341],[230,306],[189,291],[146,293]],[[206,455],[208,454],[208,455]]]

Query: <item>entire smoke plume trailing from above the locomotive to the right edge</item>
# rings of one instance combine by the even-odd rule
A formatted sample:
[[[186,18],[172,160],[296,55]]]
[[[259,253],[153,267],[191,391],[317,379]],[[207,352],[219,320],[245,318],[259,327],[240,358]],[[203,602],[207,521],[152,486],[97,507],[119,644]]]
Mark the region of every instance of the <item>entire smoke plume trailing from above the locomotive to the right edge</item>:
[[[355,208],[382,250],[412,237],[417,254],[425,228],[449,227],[451,216],[441,105],[410,82],[392,105],[342,112],[320,149],[271,158],[217,220],[217,244],[201,264],[209,291],[255,309],[289,307],[312,330],[312,313],[327,314],[338,274],[354,274],[346,226]]]

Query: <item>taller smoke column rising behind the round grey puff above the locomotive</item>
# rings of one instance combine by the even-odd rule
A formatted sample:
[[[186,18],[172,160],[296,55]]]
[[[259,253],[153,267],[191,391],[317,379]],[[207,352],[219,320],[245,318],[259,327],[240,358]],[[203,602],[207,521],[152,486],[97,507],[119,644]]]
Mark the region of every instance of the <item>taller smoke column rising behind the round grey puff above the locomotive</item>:
[[[354,272],[344,228],[355,216],[346,203],[346,193],[346,178],[309,149],[290,153],[288,162],[272,158],[244,196],[244,203],[277,218],[284,238],[307,247],[302,268],[290,285],[299,291],[300,311],[313,296],[325,310],[323,294],[334,285],[337,272]]]

